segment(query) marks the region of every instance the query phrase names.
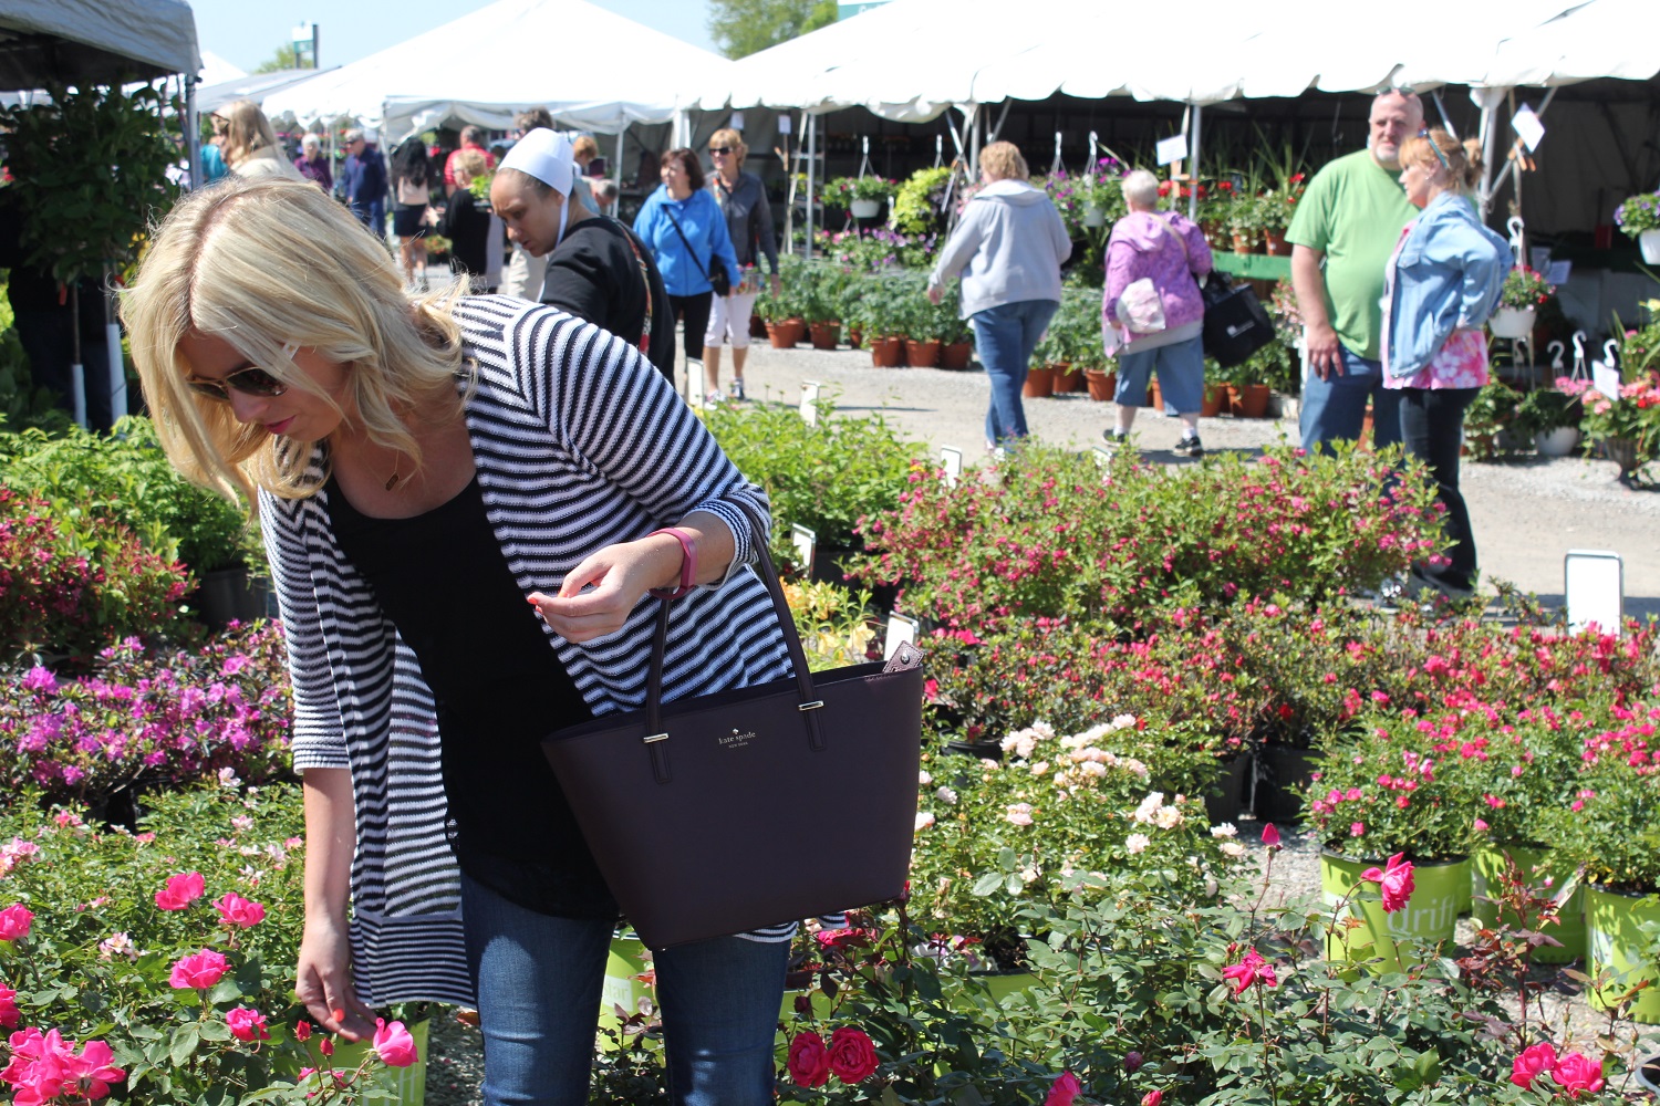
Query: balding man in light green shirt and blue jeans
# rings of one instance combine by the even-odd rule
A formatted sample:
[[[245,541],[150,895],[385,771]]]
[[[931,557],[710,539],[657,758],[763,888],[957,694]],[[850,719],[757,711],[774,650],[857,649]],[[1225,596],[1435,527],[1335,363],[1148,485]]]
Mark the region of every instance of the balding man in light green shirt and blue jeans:
[[[1379,93],[1371,101],[1366,149],[1315,174],[1285,234],[1306,343],[1300,420],[1305,449],[1330,453],[1331,441],[1358,439],[1368,400],[1373,444],[1401,441],[1399,391],[1383,386],[1378,360],[1383,272],[1401,229],[1418,217],[1396,177],[1401,143],[1423,124],[1418,96]]]

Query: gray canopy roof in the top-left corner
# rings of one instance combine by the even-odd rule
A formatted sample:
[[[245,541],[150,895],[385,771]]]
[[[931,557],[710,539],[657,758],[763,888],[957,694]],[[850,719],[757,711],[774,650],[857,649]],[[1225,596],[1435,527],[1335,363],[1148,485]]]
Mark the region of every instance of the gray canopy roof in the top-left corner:
[[[184,0],[0,0],[0,88],[196,75]]]

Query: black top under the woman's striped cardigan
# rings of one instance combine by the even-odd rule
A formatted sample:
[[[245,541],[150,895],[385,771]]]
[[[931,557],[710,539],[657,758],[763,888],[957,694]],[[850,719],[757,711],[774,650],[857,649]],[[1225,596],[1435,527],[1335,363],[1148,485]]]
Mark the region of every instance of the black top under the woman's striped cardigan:
[[[530,910],[616,917],[541,753],[543,736],[593,713],[501,555],[478,478],[413,519],[360,514],[332,478],[324,492],[340,551],[415,650],[437,701],[461,871]]]

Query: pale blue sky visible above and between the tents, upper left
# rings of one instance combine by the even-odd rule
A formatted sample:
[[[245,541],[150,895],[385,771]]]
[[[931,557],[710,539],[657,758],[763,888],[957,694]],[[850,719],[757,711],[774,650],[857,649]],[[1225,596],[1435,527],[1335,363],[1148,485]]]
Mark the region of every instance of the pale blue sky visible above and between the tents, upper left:
[[[666,35],[714,50],[706,23],[706,0],[591,0]],[[395,46],[433,27],[461,18],[468,10],[486,7],[488,0],[456,3],[456,0],[297,0],[282,5],[249,3],[247,0],[191,0],[196,12],[196,40],[203,50],[211,50],[231,65],[252,71],[271,58],[277,46],[302,22],[322,28],[322,63],[345,65],[359,58]],[[548,43],[553,48],[553,43]],[[589,45],[588,48],[598,48]],[[503,43],[503,56],[521,53],[523,43]],[[626,56],[626,45],[619,45]],[[719,53],[719,51],[717,51]],[[435,58],[433,65],[442,65]]]

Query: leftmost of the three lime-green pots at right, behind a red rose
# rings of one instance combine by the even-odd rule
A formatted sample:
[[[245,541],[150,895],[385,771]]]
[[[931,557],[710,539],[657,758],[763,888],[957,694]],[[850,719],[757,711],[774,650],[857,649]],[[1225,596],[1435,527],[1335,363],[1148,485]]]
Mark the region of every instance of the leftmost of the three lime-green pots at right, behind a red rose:
[[[1320,892],[1328,910],[1348,899],[1345,915],[1358,922],[1350,925],[1336,920],[1336,929],[1326,937],[1326,958],[1331,962],[1365,963],[1376,972],[1401,972],[1398,943],[1411,940],[1452,940],[1457,927],[1459,904],[1469,897],[1469,859],[1413,862],[1413,897],[1406,907],[1384,914],[1383,892],[1378,884],[1363,882],[1368,867],[1386,867],[1386,859],[1350,857],[1321,849]],[[1355,885],[1360,884],[1360,890]],[[1350,892],[1355,892],[1353,895]]]

